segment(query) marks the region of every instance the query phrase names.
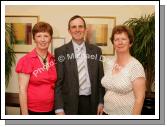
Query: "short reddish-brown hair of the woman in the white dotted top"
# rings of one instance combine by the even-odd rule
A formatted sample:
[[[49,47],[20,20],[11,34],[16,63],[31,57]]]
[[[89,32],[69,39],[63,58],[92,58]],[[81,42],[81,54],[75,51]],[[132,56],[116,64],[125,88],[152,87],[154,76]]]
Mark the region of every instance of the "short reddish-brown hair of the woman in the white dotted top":
[[[111,38],[110,38],[111,42],[112,43],[114,42],[114,35],[115,34],[119,34],[119,33],[123,33],[123,32],[127,33],[128,38],[130,40],[130,44],[132,44],[134,41],[133,30],[126,25],[117,25],[113,28]]]

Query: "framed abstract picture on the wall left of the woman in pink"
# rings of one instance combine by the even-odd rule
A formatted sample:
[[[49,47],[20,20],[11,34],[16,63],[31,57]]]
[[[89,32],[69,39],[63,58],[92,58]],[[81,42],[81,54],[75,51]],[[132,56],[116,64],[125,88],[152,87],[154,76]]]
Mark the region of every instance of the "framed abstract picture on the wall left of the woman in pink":
[[[38,21],[38,16],[5,16],[5,23],[11,27],[15,36],[15,52],[26,53],[34,48],[35,44],[32,38],[32,28]]]

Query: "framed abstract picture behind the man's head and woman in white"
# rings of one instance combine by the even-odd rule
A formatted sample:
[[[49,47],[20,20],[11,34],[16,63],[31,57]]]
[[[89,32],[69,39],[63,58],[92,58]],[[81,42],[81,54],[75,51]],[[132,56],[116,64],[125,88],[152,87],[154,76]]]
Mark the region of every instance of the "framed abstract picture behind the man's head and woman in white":
[[[110,41],[115,17],[83,16],[87,25],[86,41],[99,46],[103,55],[114,55],[114,48]]]

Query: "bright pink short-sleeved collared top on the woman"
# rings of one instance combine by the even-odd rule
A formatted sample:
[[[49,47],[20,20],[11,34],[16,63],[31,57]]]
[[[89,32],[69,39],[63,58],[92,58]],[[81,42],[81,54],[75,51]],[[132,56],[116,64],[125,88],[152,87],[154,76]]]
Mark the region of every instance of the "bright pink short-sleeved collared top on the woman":
[[[35,49],[23,56],[16,66],[17,73],[30,74],[27,90],[28,109],[49,112],[54,108],[54,88],[57,80],[54,57],[48,53],[49,69],[39,60]]]

